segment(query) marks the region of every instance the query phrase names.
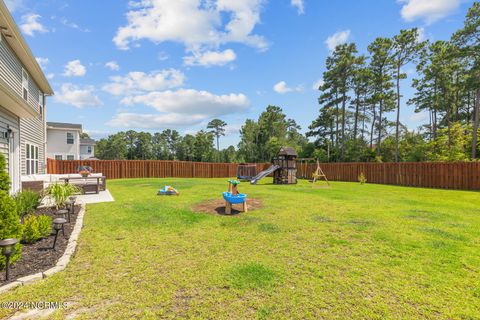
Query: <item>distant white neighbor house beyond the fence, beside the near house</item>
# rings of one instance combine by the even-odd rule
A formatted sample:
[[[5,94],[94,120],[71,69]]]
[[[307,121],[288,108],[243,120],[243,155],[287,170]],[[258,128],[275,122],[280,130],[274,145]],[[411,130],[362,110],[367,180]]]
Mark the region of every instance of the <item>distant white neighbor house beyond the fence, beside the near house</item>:
[[[81,124],[47,122],[47,157],[55,160],[93,158],[95,140],[81,136]]]

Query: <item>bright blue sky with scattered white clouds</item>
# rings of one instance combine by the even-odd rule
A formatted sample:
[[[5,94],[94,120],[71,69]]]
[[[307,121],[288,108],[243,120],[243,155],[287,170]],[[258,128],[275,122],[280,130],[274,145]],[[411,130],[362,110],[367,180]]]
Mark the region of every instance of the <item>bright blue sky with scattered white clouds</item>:
[[[246,118],[281,106],[306,129],[318,114],[324,62],[335,44],[361,52],[375,37],[421,28],[448,39],[468,0],[6,0],[55,96],[48,121],[93,137],[121,130],[193,133],[212,118],[236,145]],[[410,78],[413,67],[405,70]],[[412,94],[402,83],[403,102]],[[393,114],[392,114],[393,116]],[[402,106],[403,123],[426,121]]]

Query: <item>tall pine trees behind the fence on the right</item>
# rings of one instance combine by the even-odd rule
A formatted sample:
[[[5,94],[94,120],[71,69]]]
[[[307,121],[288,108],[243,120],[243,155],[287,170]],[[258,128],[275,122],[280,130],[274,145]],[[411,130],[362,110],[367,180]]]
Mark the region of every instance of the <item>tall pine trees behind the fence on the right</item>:
[[[477,2],[449,41],[423,41],[414,28],[376,38],[366,55],[354,43],[337,46],[325,62],[320,112],[307,132],[316,152],[327,153],[329,161],[477,158],[479,28]],[[402,80],[413,67],[415,94],[404,101]],[[408,131],[400,121],[402,105],[427,113],[428,123]]]

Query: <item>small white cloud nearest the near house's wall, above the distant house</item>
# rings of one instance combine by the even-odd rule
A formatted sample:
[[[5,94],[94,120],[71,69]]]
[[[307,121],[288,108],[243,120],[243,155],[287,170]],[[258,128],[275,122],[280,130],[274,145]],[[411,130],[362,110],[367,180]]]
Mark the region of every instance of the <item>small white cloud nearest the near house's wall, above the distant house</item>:
[[[95,95],[93,86],[79,87],[71,83],[65,83],[60,87],[60,92],[54,97],[55,101],[72,105],[77,108],[98,107],[102,101]]]

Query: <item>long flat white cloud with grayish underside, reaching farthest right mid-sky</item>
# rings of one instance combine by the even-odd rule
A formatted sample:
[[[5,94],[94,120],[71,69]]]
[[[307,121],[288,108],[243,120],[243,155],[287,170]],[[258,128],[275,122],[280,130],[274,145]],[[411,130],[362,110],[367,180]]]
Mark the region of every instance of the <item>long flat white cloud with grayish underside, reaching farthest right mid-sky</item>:
[[[155,91],[122,99],[124,105],[143,104],[159,112],[202,115],[205,118],[245,111],[250,101],[244,94],[215,95],[208,91],[179,89]]]

